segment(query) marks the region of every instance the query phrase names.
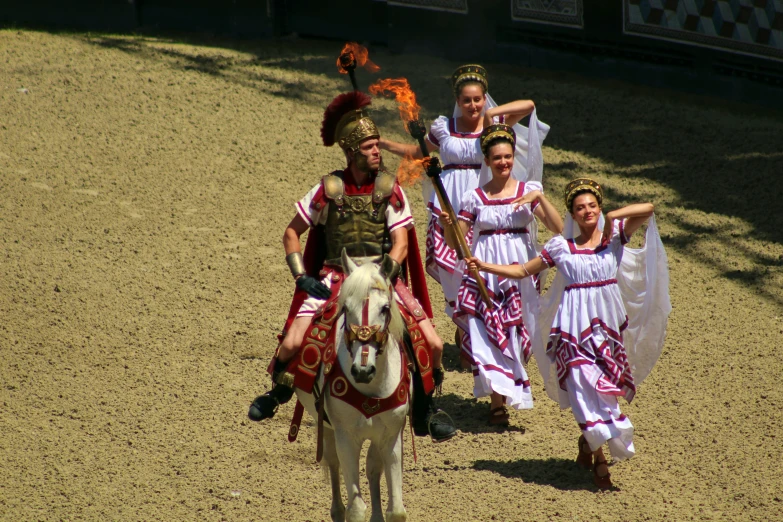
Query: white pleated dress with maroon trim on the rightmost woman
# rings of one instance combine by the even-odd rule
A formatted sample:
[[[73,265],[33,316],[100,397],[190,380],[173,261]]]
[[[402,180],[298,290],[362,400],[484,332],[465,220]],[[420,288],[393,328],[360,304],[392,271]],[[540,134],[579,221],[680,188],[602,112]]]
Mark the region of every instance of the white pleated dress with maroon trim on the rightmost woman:
[[[623,345],[628,326],[617,272],[628,238],[625,221],[614,224],[607,245],[577,249],[573,239],[556,236],[541,259],[565,277],[565,290],[552,321],[546,353],[556,367],[560,389],[593,450],[609,442],[615,460],[634,455],[633,425],[618,397],[636,393]]]

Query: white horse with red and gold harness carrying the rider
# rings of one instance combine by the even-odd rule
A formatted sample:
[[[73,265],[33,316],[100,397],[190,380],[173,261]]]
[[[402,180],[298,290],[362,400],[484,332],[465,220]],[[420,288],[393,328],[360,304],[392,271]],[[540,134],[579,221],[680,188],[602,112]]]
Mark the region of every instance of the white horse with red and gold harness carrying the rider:
[[[384,261],[387,261],[384,259]],[[366,263],[362,266],[351,260],[343,251],[342,263],[346,277],[340,288],[339,316],[334,323],[337,360],[342,376],[327,382],[322,371],[318,388],[323,390],[324,410],[331,424],[323,430],[323,460],[332,486],[330,514],[333,522],[363,522],[367,505],[359,486],[359,458],[364,441],[370,441],[367,452],[367,475],[370,482],[372,516],[370,522],[384,522],[381,505],[381,473],[386,475],[389,503],[386,522],[407,520],[402,504],[402,431],[408,413],[412,384],[407,379],[408,368],[403,368],[402,336],[404,321],[397,308],[393,285],[386,274],[387,262],[378,266]],[[332,373],[336,370],[332,369]],[[328,372],[328,370],[327,370]],[[406,373],[403,373],[406,372]],[[330,374],[331,375],[331,374]],[[361,395],[368,413],[376,399],[402,396],[405,402],[387,411],[380,411],[369,418],[356,406],[335,395],[345,396],[343,378]],[[318,418],[313,395],[296,390],[305,409]],[[347,510],[340,494],[340,471],[348,493]]]

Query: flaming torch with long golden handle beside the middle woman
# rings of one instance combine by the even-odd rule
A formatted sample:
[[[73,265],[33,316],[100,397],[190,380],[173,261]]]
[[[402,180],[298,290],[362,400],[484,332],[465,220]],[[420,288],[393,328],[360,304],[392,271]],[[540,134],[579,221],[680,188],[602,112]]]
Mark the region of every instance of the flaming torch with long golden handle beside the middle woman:
[[[470,247],[465,240],[465,235],[459,228],[457,223],[457,215],[454,212],[454,207],[449,201],[449,196],[446,194],[446,189],[443,186],[443,181],[440,179],[440,173],[443,169],[440,168],[440,162],[437,157],[430,156],[427,150],[427,144],[424,142],[424,136],[427,133],[427,129],[424,124],[419,120],[419,110],[421,107],[416,103],[416,94],[411,90],[408,85],[408,80],[405,78],[399,78],[395,80],[380,80],[370,85],[370,92],[372,94],[383,95],[386,91],[392,93],[397,100],[400,109],[400,118],[402,118],[405,129],[410,133],[413,139],[419,142],[419,148],[424,156],[424,160],[421,161],[422,166],[427,173],[427,176],[432,180],[432,185],[435,188],[435,194],[438,196],[440,202],[441,212],[445,212],[451,218],[451,226],[446,230],[446,233],[451,233],[453,237],[457,239],[457,257],[459,259],[465,259],[470,255]],[[408,158],[405,158],[406,160]],[[417,161],[410,158],[411,161]],[[400,165],[402,168],[402,165]],[[476,280],[481,299],[484,301],[486,307],[490,310],[495,308],[492,300],[489,298],[489,292],[484,284],[484,279],[481,278],[478,270],[471,270],[471,275]]]

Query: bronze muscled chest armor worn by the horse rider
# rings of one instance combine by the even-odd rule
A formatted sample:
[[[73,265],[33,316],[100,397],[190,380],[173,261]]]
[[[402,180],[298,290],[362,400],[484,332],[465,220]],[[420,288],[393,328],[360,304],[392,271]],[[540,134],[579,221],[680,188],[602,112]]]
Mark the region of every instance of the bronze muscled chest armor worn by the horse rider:
[[[372,194],[349,196],[337,175],[324,178],[329,200],[326,216],[326,263],[340,264],[343,248],[355,258],[378,262],[391,251],[391,236],[386,224],[386,208],[394,188],[394,175],[381,173],[375,179]]]

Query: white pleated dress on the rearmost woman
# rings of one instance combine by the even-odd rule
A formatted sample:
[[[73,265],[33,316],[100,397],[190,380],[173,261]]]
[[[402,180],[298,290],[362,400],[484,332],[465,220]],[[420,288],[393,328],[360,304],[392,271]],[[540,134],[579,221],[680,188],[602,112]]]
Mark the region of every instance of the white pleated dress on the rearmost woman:
[[[427,135],[427,139],[438,147],[443,166],[440,179],[454,212],[457,213],[465,194],[478,187],[479,170],[484,161],[480,137],[480,132],[457,132],[456,119],[445,116],[439,116],[432,122]],[[430,222],[427,227],[425,268],[443,288],[446,314],[452,317],[460,284],[460,275],[454,274],[458,263],[457,253],[449,248],[443,237],[443,227],[438,222],[440,202],[434,191],[429,195],[427,208],[430,211]],[[470,244],[471,237],[468,237],[467,241]]]

